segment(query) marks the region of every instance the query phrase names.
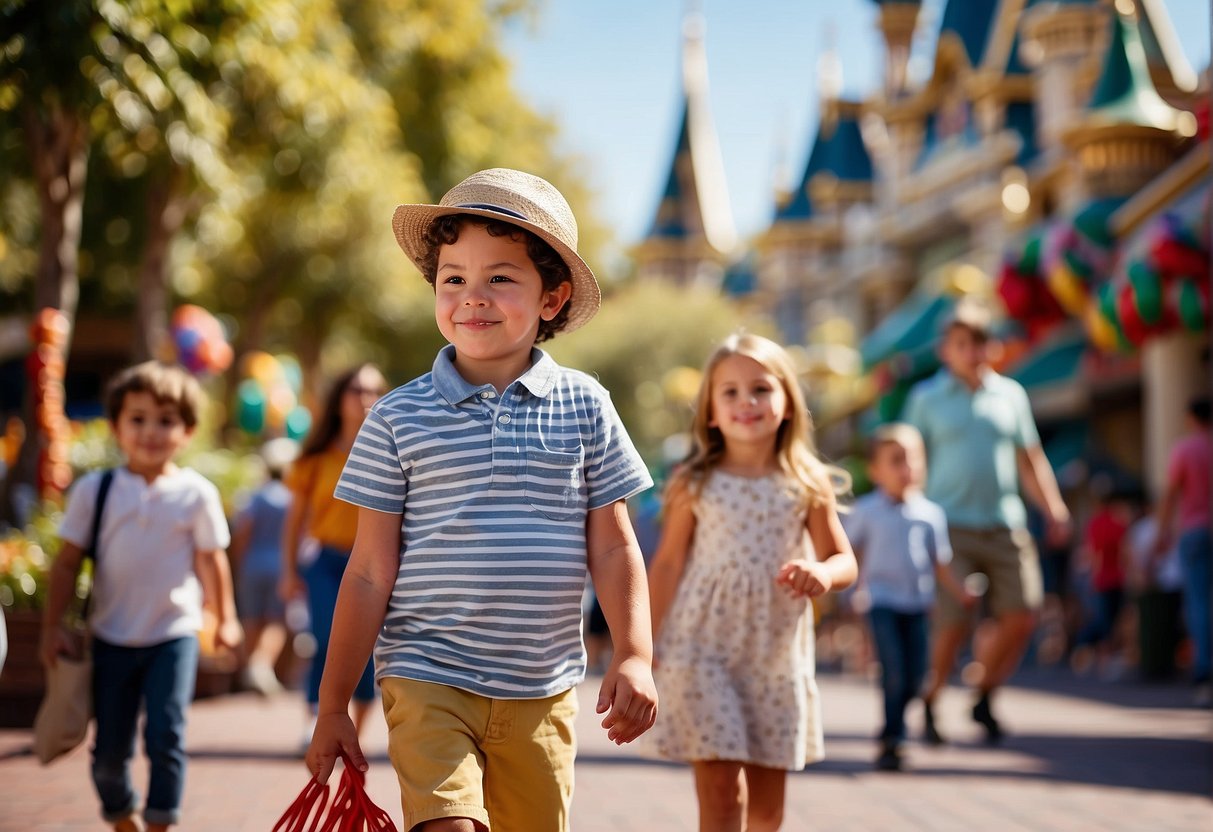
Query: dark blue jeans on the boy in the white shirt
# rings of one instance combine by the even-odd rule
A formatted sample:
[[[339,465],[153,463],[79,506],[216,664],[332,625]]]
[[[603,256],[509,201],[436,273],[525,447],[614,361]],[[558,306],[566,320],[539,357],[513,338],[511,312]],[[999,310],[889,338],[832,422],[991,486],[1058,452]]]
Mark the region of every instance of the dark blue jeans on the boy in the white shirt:
[[[198,638],[186,636],[143,648],[93,639],[92,702],[97,736],[92,782],[109,822],[133,813],[131,758],[139,706],[146,713],[143,751],[150,768],[143,817],[176,824],[186,785],[186,710],[194,696]]]

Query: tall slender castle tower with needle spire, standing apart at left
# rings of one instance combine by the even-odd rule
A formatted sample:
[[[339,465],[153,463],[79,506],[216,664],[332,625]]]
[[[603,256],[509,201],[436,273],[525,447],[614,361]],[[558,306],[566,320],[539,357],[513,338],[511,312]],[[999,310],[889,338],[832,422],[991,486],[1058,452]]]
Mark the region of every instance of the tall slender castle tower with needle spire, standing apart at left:
[[[708,108],[701,15],[683,23],[683,108],[656,216],[633,250],[642,280],[719,286],[736,249],[724,164]]]

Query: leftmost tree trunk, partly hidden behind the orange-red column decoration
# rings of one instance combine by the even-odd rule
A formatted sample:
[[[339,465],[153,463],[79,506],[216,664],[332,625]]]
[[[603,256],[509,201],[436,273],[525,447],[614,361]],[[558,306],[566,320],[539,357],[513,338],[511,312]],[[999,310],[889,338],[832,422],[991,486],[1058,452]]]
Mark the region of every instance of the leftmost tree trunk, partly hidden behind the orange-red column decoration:
[[[57,104],[50,104],[47,109],[28,106],[22,116],[41,213],[34,309],[58,309],[73,327],[80,301],[78,266],[84,183],[89,170],[89,126],[79,114]],[[69,330],[62,347],[64,363],[70,348]],[[22,486],[33,485],[38,455],[46,445],[46,437],[40,434],[34,418],[33,380],[25,386],[23,418],[25,439],[0,494],[0,515],[13,524],[25,519],[18,517],[16,497]]]

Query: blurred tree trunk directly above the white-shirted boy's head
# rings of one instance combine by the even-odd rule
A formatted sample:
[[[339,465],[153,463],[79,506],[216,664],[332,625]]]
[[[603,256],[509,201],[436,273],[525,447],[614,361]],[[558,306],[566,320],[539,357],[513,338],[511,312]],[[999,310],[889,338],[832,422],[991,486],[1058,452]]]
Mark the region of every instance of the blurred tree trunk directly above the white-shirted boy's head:
[[[139,264],[139,292],[136,301],[135,360],[166,358],[169,346],[169,246],[186,218],[181,195],[184,171],[169,163],[148,189],[148,237]]]

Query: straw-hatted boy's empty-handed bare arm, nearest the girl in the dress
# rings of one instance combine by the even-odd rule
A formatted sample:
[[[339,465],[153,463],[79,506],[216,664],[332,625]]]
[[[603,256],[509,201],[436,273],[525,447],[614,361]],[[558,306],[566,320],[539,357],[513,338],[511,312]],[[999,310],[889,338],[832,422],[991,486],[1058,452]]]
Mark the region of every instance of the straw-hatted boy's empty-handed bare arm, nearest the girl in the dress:
[[[606,713],[602,722],[606,739],[622,745],[653,728],[657,718],[644,558],[622,500],[590,512],[586,555],[615,654],[596,710]]]

